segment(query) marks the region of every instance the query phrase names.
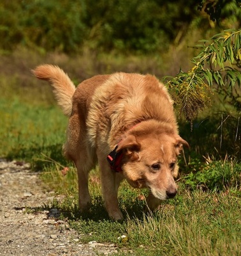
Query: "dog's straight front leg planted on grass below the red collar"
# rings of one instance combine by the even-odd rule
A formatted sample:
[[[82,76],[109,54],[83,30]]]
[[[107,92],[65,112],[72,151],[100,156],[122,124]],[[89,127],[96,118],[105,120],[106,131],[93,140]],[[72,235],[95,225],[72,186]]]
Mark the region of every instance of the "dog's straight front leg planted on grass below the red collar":
[[[123,215],[120,212],[117,188],[115,184],[115,173],[110,170],[106,159],[99,159],[99,171],[101,176],[101,188],[106,211],[113,220],[122,220]],[[119,183],[119,182],[118,182]]]

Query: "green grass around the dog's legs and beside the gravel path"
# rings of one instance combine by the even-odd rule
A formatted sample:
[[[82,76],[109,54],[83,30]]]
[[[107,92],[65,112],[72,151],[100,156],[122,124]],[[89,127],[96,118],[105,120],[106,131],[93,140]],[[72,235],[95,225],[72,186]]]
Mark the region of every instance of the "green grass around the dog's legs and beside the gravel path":
[[[33,88],[26,85],[21,90],[22,87],[18,88],[20,73],[1,76],[0,156],[31,162],[33,169],[40,171],[47,188],[54,189],[56,195],[65,195],[63,200],[54,199],[43,207],[57,207],[60,218],[68,220],[70,227],[79,232],[80,243],[114,243],[119,247],[117,255],[240,255],[238,161],[213,159],[204,164],[196,155],[190,155],[187,169],[196,170],[194,173],[198,175],[192,178],[182,172],[179,195],[148,215],[143,213],[147,191],[130,188],[123,182],[119,191],[120,209],[124,213],[122,222],[108,218],[101,199],[98,170],[92,170],[89,187],[93,204],[89,212],[80,214],[77,174],[73,164],[61,154],[67,118],[52,104],[54,100],[48,95],[47,86],[36,88],[33,83]],[[190,134],[191,139],[193,134]],[[201,133],[195,135],[201,136]],[[184,170],[185,164],[181,166]],[[188,182],[193,182],[192,186]]]

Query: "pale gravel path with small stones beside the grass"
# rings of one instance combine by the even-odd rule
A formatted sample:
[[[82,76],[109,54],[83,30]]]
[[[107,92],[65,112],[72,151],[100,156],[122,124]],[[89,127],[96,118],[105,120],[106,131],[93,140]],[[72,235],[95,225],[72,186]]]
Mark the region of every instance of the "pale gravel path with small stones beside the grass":
[[[38,173],[23,162],[0,159],[0,255],[110,255],[114,244],[79,243],[80,236],[66,221],[57,220],[57,209],[28,209],[48,204],[54,198],[41,186]],[[31,211],[29,211],[31,212]]]

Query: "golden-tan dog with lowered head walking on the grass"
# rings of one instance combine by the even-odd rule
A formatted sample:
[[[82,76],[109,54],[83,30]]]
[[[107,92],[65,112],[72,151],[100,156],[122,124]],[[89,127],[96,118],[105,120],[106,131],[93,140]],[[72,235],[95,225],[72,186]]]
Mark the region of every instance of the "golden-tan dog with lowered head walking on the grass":
[[[94,76],[77,88],[54,65],[40,65],[34,76],[52,84],[57,104],[69,117],[64,156],[78,172],[80,211],[89,209],[88,173],[99,164],[106,211],[121,220],[117,191],[126,179],[133,188],[149,188],[147,207],[177,194],[177,157],[186,140],[179,136],[173,100],[149,74],[117,72]]]

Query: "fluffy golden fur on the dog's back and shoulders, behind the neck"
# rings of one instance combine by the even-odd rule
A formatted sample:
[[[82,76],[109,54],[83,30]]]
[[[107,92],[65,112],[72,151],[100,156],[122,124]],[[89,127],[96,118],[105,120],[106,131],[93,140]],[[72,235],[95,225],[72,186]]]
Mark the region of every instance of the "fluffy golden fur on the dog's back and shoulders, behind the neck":
[[[173,101],[164,85],[150,75],[115,73],[92,95],[87,116],[89,139],[94,145],[96,136],[110,138],[113,147],[123,132],[150,119],[172,125],[174,132],[178,130]]]

